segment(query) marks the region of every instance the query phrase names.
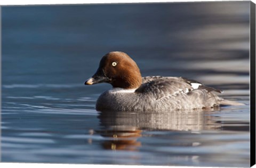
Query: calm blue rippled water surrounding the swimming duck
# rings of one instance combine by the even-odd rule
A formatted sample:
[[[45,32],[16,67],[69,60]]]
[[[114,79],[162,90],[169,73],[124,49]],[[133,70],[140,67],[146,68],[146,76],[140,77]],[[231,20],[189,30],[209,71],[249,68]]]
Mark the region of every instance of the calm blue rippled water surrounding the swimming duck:
[[[249,3],[3,7],[2,162],[249,166]],[[246,106],[95,111],[109,51]]]

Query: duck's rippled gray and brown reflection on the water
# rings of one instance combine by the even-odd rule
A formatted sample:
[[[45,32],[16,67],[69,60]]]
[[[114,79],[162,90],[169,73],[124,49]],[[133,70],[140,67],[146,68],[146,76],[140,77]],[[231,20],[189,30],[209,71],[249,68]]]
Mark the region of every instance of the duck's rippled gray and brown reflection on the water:
[[[214,109],[216,110],[216,109]],[[100,111],[101,130],[97,132],[106,137],[102,146],[112,150],[138,150],[143,130],[162,131],[209,131],[221,128],[213,115],[214,111],[169,111],[155,113],[129,111]]]

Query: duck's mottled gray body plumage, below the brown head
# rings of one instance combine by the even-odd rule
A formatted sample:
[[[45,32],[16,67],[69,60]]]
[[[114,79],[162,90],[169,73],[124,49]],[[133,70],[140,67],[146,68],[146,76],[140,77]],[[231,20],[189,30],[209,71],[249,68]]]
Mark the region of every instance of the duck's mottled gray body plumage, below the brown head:
[[[142,85],[136,90],[113,89],[103,92],[97,100],[96,109],[137,111],[212,108],[225,101],[213,91],[221,92],[182,77],[149,76],[142,78]]]

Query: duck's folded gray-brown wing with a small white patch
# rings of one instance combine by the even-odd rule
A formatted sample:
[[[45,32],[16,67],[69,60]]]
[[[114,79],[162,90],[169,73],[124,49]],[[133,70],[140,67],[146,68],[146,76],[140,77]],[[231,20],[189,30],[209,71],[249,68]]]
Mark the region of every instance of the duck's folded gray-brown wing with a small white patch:
[[[143,77],[142,85],[135,92],[153,94],[156,99],[161,99],[177,94],[189,94],[196,89],[204,90],[205,92],[222,92],[213,87],[204,86],[195,80],[162,76]]]

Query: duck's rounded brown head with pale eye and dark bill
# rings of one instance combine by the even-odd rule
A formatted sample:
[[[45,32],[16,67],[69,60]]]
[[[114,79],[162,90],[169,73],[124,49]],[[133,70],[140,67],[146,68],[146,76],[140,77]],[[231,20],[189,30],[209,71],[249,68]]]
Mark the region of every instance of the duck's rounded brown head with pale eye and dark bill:
[[[102,57],[98,70],[84,84],[92,85],[102,82],[123,89],[137,89],[142,83],[142,77],[140,69],[129,55],[114,51]]]

